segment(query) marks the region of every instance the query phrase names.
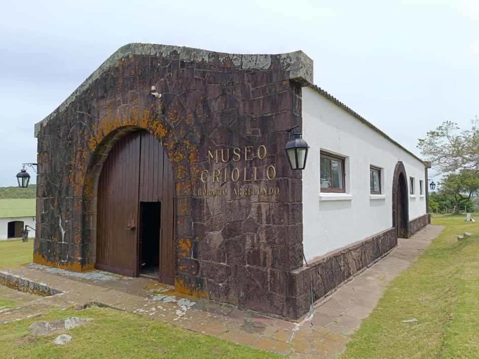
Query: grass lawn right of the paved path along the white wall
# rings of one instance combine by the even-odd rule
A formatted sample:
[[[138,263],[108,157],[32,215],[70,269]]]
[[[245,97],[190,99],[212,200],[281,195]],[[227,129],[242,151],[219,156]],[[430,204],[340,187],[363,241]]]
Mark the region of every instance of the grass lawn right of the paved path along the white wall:
[[[479,223],[464,218],[433,217],[446,228],[391,281],[343,357],[479,357]],[[456,241],[464,231],[473,235]]]

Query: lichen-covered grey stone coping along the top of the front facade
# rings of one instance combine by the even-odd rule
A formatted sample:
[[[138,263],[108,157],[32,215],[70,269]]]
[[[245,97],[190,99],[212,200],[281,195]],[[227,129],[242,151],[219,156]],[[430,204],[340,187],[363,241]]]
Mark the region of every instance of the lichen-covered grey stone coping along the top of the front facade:
[[[35,124],[34,137],[38,137],[43,124],[63,112],[70,103],[80,96],[106,70],[117,65],[118,60],[132,55],[174,58],[186,62],[224,65],[241,69],[268,69],[273,58],[279,58],[285,78],[299,81],[303,85],[313,83],[313,60],[302,51],[286,54],[228,54],[222,52],[193,49],[184,46],[132,43],[122,46],[108,57],[88,78],[63,101],[52,113]]]

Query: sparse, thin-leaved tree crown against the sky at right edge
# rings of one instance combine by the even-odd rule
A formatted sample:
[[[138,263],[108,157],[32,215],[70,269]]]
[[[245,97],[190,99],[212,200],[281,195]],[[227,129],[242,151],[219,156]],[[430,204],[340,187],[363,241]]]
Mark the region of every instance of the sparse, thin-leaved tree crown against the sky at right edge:
[[[418,140],[421,153],[439,174],[460,170],[479,173],[479,118],[475,116],[471,123],[470,130],[461,130],[456,123],[446,121]]]

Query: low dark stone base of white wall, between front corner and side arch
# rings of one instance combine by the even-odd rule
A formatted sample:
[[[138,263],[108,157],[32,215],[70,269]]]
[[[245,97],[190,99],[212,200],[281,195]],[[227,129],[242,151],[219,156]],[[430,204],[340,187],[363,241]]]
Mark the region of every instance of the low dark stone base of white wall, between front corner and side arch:
[[[290,313],[290,316],[299,317],[309,310],[310,278],[316,301],[396,246],[397,230],[392,227],[362,241],[326,253],[313,259],[308,266],[304,265],[293,270],[291,276],[297,290],[298,313],[296,315]]]

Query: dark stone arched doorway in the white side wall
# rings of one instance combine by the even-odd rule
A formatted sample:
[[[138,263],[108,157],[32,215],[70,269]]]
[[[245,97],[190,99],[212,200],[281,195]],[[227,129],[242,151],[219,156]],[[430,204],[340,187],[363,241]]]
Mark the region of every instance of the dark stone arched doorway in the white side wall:
[[[398,238],[409,238],[409,198],[406,169],[401,161],[394,168],[392,180],[392,226]]]

